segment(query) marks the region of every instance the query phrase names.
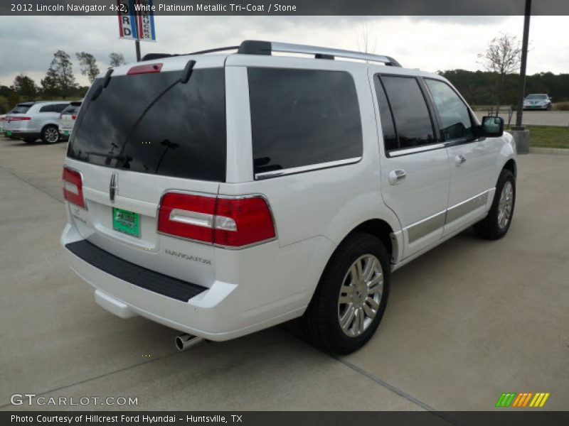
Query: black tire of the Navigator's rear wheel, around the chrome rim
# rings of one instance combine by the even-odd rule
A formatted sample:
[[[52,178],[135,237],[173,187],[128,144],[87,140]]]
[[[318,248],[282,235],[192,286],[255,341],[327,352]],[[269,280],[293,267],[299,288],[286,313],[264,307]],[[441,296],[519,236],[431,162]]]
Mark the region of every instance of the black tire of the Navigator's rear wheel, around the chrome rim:
[[[381,264],[381,272],[383,273],[383,292],[379,296],[378,308],[373,319],[367,318],[367,325],[363,327],[363,332],[356,336],[346,334],[350,330],[344,332],[340,324],[340,311],[343,306],[347,310],[353,305],[340,305],[341,287],[344,281],[347,282],[351,277],[351,266],[359,261],[362,256],[374,256]],[[349,354],[361,348],[368,342],[376,332],[385,306],[389,297],[390,286],[390,257],[382,242],[375,236],[364,233],[356,233],[348,236],[347,239],[336,249],[331,256],[324,273],[320,278],[317,289],[312,296],[312,300],[304,312],[302,318],[304,329],[311,341],[324,351],[334,354]],[[373,258],[370,257],[373,261]],[[362,260],[365,262],[365,258]],[[365,263],[363,263],[365,265]],[[373,275],[376,280],[378,271]],[[378,287],[381,285],[378,283]],[[371,286],[371,288],[376,288]],[[356,292],[357,293],[357,292]],[[352,293],[356,297],[356,293]],[[360,293],[357,293],[360,295]],[[367,293],[368,295],[371,293]],[[377,300],[376,300],[377,302]],[[366,302],[363,302],[366,305]],[[368,310],[371,305],[367,305]],[[357,310],[357,309],[356,309]],[[360,312],[363,312],[361,307]],[[361,314],[363,315],[363,314]],[[357,321],[358,315],[353,321]],[[348,322],[349,323],[349,322]]]

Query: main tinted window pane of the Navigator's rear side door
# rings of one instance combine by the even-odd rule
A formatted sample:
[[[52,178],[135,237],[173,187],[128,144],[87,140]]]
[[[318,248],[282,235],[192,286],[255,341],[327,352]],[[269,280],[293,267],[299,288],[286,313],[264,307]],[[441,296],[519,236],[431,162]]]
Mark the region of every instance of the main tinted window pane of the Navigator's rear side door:
[[[398,133],[399,148],[435,143],[435,133],[425,97],[415,78],[382,76],[395,126]]]

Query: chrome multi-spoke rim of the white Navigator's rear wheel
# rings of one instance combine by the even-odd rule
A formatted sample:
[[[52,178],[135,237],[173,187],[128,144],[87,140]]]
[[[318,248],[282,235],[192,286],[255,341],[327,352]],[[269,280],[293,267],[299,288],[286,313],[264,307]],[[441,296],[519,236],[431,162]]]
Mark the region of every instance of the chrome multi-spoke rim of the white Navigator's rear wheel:
[[[371,254],[360,256],[344,276],[338,298],[338,320],[344,334],[357,337],[376,317],[383,294],[381,263]]]

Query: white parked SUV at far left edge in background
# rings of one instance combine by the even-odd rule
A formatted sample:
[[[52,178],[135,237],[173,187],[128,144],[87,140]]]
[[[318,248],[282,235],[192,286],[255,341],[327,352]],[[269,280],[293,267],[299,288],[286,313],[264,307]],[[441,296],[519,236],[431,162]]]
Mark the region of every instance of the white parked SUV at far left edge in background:
[[[59,141],[59,114],[69,102],[22,102],[4,117],[4,136],[30,143]]]

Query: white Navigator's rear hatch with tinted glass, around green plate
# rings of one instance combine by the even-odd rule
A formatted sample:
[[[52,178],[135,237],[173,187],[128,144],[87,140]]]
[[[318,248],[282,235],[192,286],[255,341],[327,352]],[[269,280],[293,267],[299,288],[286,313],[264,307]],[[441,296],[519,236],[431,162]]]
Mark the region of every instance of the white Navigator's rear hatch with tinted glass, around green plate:
[[[216,195],[225,180],[223,61],[198,60],[182,84],[187,61],[165,63],[161,72],[147,75],[126,75],[123,67],[102,90],[104,78],[95,81],[66,159],[82,175],[86,209],[69,208],[91,244],[152,271],[210,287],[215,280],[213,246],[157,232],[165,192]],[[134,213],[138,236],[116,229],[114,209]]]

